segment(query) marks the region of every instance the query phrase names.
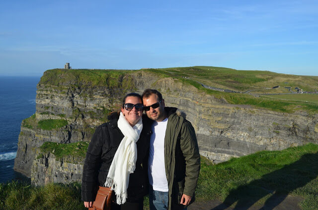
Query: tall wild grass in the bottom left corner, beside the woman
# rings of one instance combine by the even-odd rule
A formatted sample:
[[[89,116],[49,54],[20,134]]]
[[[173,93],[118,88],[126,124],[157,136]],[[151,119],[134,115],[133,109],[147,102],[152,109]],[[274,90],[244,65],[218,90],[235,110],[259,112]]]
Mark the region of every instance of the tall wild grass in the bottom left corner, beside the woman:
[[[85,210],[80,184],[0,183],[0,210]],[[87,210],[87,209],[86,209]]]

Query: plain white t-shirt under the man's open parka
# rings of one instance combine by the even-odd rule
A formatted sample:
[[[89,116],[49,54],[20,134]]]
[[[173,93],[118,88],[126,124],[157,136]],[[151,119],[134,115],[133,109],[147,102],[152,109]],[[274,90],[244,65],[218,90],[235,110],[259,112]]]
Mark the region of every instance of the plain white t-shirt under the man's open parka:
[[[154,190],[168,192],[168,181],[164,167],[164,136],[168,118],[161,122],[154,122],[153,133],[150,137],[148,177]]]

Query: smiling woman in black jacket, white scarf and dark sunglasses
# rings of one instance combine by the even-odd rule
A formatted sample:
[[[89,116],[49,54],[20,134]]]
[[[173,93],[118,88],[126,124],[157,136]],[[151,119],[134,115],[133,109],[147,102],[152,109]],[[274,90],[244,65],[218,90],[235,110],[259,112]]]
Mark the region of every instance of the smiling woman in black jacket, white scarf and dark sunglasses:
[[[83,167],[81,189],[86,208],[92,206],[98,186],[112,186],[112,210],[143,209],[151,127],[143,125],[142,113],[141,96],[130,93],[120,114],[113,112],[109,122],[96,128]]]

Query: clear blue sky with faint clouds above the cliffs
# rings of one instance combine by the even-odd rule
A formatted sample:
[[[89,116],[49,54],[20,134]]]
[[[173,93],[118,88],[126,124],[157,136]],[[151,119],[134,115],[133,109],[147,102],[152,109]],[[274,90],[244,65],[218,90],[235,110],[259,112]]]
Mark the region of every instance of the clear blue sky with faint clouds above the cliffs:
[[[317,0],[1,0],[0,75],[221,66],[318,76]]]

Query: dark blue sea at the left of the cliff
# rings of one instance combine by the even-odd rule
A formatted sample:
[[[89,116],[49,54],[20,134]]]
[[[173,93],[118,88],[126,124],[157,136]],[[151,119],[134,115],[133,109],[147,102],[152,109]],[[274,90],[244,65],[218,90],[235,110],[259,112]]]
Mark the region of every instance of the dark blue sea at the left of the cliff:
[[[21,121],[35,113],[40,77],[0,76],[0,183],[23,176],[13,170]]]

